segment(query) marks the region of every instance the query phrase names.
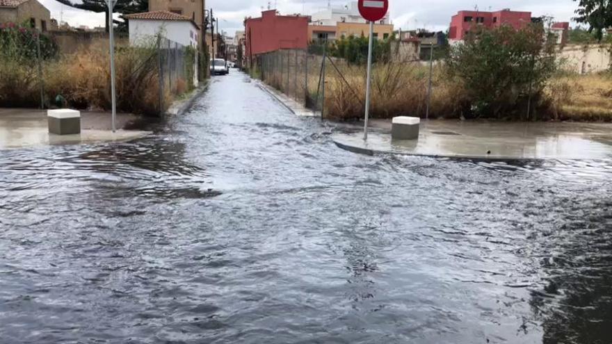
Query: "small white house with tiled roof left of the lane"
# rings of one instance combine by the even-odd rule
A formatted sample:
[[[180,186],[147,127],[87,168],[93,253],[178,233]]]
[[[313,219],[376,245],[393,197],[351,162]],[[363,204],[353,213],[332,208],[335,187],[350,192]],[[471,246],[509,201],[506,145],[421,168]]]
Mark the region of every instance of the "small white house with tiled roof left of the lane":
[[[158,35],[198,51],[198,25],[189,17],[165,10],[126,15],[130,45],[156,44]],[[170,42],[169,48],[175,48]],[[167,42],[165,42],[167,44]],[[163,47],[167,49],[168,47]],[[195,54],[193,84],[198,84],[198,54]]]

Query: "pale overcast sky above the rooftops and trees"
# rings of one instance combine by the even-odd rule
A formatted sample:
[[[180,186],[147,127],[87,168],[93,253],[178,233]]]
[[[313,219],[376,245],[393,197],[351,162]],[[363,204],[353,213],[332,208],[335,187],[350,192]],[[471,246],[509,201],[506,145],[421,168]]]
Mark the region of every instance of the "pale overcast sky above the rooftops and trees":
[[[104,14],[91,13],[62,6],[55,0],[39,0],[49,10],[51,17],[63,19],[72,26],[87,25],[103,26]],[[330,0],[332,6],[341,6],[348,1]],[[271,5],[282,14],[303,13],[310,15],[324,9],[328,0],[271,0]],[[396,28],[412,29],[427,28],[429,30],[446,31],[451,16],[458,10],[512,10],[531,11],[534,17],[550,15],[560,22],[569,21],[574,16],[577,4],[572,0],[389,0],[389,11]],[[219,17],[220,30],[232,34],[242,28],[244,17],[258,17],[263,8],[267,8],[268,0],[207,0],[206,7],[213,8],[215,16]]]

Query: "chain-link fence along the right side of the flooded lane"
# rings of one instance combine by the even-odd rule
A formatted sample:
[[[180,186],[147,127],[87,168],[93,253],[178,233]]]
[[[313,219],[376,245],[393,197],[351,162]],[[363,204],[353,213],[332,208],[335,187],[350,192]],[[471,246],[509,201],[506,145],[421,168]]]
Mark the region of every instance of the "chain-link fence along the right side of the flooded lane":
[[[429,58],[432,48],[427,49]],[[380,45],[373,66],[371,113],[375,117],[428,117],[443,75],[439,63],[421,60],[420,54],[414,42]],[[335,44],[312,44],[308,49],[254,56],[251,72],[303,106],[320,111],[322,117],[360,118],[364,114],[365,58],[367,50],[348,56]]]

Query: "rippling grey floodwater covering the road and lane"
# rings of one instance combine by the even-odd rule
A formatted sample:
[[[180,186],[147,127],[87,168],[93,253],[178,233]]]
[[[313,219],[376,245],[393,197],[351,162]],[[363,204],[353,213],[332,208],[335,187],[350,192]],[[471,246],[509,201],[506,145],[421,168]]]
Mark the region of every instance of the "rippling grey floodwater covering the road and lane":
[[[0,151],[0,343],[612,343],[611,161],[361,156],[243,74]]]

